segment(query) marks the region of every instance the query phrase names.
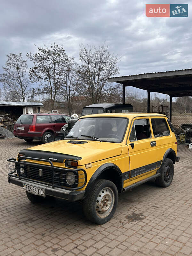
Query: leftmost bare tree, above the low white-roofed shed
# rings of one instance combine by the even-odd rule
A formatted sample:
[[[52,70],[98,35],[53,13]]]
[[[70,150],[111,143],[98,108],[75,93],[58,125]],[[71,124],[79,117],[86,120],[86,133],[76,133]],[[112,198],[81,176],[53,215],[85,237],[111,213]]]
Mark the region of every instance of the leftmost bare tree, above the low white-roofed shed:
[[[27,60],[23,60],[21,52],[7,55],[7,61],[3,67],[4,73],[0,75],[0,82],[4,85],[7,98],[15,95],[15,98],[25,102],[30,87],[27,68]]]

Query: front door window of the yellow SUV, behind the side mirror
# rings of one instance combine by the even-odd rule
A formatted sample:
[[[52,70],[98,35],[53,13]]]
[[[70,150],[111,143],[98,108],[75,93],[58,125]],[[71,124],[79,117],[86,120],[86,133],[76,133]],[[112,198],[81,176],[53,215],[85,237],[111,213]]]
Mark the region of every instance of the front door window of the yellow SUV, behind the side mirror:
[[[132,125],[132,131],[129,137],[130,141],[151,138],[151,132],[148,119],[136,119]]]

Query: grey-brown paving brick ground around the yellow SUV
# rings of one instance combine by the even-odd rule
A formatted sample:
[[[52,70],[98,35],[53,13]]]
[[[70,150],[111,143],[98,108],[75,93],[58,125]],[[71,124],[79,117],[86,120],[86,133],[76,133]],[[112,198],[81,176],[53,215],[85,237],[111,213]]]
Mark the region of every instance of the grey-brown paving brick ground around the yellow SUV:
[[[0,140],[0,255],[192,255],[192,150],[179,145],[180,162],[168,188],[148,182],[120,195],[114,217],[96,225],[81,204],[59,199],[31,204],[7,182],[7,161],[40,142]]]

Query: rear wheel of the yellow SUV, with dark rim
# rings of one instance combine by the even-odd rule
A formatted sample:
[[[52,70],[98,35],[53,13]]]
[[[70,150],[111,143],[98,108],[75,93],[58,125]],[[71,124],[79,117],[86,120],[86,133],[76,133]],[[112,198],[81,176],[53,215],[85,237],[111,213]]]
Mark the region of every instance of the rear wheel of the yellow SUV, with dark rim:
[[[156,184],[160,187],[166,188],[172,183],[174,175],[173,161],[169,158],[166,158],[164,164],[160,168],[161,175],[156,178]]]

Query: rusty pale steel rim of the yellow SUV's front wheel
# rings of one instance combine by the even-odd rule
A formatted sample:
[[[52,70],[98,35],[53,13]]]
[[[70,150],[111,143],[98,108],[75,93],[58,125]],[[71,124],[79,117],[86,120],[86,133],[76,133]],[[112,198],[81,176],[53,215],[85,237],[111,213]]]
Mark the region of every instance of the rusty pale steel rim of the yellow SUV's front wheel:
[[[97,196],[95,209],[100,218],[105,218],[112,211],[115,204],[115,194],[109,187],[101,189]]]

